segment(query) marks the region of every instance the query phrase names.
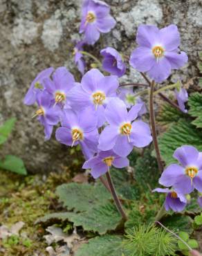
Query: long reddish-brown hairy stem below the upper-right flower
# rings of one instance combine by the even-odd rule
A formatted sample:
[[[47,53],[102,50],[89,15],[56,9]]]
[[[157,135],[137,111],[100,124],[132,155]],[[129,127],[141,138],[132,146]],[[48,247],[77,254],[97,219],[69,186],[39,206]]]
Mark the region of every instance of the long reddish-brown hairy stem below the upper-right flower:
[[[160,150],[158,147],[158,140],[157,140],[157,134],[156,134],[156,122],[155,122],[155,114],[154,114],[154,81],[151,83],[150,87],[150,93],[149,93],[149,116],[151,120],[151,126],[152,126],[152,137],[153,137],[153,143],[154,143],[154,149],[156,151],[156,159],[158,163],[158,169],[161,172],[163,172],[163,165],[160,158]]]

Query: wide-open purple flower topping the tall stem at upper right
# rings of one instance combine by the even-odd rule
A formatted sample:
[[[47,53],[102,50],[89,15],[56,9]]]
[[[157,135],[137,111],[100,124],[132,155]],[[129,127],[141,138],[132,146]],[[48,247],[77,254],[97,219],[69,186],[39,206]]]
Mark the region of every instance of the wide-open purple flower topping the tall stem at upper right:
[[[163,82],[172,69],[181,68],[187,62],[184,52],[178,53],[180,35],[175,25],[158,29],[140,25],[136,37],[138,48],[132,52],[130,64],[140,72],[147,72],[156,82]]]

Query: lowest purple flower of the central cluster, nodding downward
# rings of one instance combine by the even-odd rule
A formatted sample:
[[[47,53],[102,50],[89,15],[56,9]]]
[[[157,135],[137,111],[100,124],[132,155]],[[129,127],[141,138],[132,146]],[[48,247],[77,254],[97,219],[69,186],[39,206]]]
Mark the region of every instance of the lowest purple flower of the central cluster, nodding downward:
[[[83,169],[91,169],[91,174],[94,179],[99,178],[105,174],[109,168],[113,165],[116,168],[122,168],[129,166],[129,160],[124,157],[120,157],[113,152],[113,150],[102,151],[93,158],[86,161],[83,165]]]

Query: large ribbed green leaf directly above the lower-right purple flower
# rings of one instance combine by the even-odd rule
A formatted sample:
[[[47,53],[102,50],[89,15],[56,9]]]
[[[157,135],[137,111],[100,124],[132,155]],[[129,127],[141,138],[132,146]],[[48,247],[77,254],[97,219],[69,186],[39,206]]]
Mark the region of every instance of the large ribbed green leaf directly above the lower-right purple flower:
[[[161,156],[166,165],[176,163],[172,157],[176,148],[182,145],[192,145],[202,151],[202,132],[196,129],[188,120],[181,119],[177,124],[172,125],[160,136],[159,148]]]

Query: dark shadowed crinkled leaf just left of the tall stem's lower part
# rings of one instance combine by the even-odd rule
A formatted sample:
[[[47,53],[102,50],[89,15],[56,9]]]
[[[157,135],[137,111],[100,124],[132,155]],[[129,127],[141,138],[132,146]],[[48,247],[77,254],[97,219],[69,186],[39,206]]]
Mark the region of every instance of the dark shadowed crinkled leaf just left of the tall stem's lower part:
[[[158,185],[158,165],[151,154],[151,149],[145,149],[143,157],[138,158],[134,166],[134,177],[142,192],[151,191]]]

